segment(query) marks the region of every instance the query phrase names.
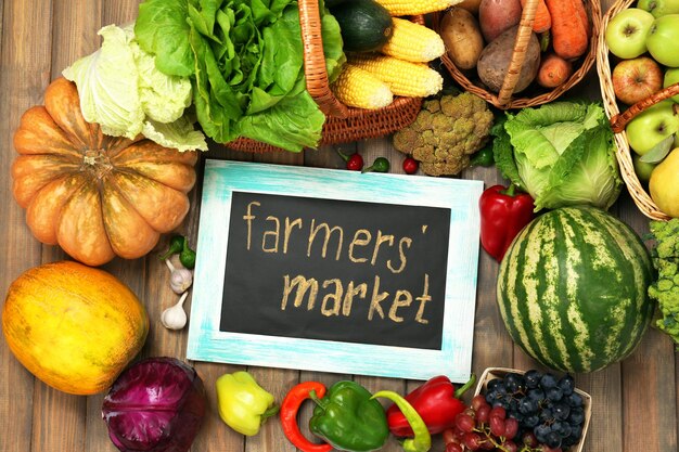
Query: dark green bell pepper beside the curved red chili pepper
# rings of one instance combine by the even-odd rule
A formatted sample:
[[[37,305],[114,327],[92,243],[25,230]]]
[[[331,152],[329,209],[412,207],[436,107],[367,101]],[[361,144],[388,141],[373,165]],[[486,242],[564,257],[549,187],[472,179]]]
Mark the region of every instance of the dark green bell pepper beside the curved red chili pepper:
[[[369,452],[386,442],[389,427],[384,408],[358,383],[337,382],[322,399],[310,396],[316,406],[309,429],[333,448]]]

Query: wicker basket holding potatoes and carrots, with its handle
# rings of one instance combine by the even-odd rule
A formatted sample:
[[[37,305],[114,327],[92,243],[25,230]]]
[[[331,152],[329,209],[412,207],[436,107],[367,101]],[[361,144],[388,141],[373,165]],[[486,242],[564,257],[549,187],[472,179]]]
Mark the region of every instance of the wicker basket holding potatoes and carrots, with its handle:
[[[447,54],[441,56],[441,61],[450,72],[452,78],[460,83],[465,91],[472,92],[485,99],[487,102],[500,109],[525,108],[552,102],[585,78],[589,69],[594,64],[594,59],[597,57],[597,40],[601,29],[601,0],[586,0],[586,7],[591,24],[589,49],[584,56],[580,56],[579,60],[581,60],[581,62],[579,62],[579,60],[578,62],[575,62],[575,64],[579,64],[579,66],[576,70],[574,70],[571,77],[564,83],[551,91],[546,91],[543,88],[537,87],[534,82],[526,90],[518,93],[522,96],[512,95],[514,87],[516,87],[516,83],[518,82],[521,68],[523,67],[526,56],[528,40],[530,38],[530,34],[533,33],[533,22],[535,20],[537,5],[537,0],[526,1],[521,23],[518,24],[518,33],[516,34],[516,42],[514,44],[512,60],[499,93],[486,90],[485,86],[478,79],[475,69],[471,69],[471,72],[462,72],[454,65],[452,60],[450,60]],[[435,28],[437,30],[439,30],[441,17],[443,14],[437,14],[435,16]]]

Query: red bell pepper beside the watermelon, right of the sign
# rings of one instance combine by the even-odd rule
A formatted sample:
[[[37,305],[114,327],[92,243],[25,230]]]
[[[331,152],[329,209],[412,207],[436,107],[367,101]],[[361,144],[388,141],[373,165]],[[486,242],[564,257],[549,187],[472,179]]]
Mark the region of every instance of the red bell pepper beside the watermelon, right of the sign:
[[[481,209],[481,244],[498,262],[518,232],[535,218],[535,204],[527,193],[492,185],[478,201]]]

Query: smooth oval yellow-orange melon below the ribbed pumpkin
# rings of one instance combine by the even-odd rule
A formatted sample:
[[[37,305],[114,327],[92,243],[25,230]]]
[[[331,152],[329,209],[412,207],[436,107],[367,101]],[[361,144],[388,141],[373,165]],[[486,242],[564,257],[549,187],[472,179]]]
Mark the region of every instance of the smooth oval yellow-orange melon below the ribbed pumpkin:
[[[36,377],[64,392],[91,395],[108,388],[139,353],[149,317],[112,274],[61,261],[29,269],[10,285],[2,332]]]

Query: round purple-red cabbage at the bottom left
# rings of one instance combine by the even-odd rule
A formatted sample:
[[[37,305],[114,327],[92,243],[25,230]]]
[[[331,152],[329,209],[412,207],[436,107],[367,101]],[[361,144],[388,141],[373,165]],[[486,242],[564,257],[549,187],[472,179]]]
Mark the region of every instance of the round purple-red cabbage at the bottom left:
[[[118,376],[104,398],[102,417],[123,452],[185,452],[206,405],[193,367],[175,358],[149,358]]]

